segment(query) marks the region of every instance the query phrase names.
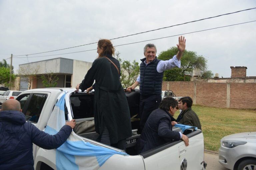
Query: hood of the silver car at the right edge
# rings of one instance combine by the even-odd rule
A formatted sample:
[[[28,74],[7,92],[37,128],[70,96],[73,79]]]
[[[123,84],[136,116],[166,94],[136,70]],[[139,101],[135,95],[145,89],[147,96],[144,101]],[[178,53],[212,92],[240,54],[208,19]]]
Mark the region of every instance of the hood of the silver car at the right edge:
[[[239,140],[239,141],[253,141],[256,142],[256,132],[235,133],[223,137],[221,140]]]

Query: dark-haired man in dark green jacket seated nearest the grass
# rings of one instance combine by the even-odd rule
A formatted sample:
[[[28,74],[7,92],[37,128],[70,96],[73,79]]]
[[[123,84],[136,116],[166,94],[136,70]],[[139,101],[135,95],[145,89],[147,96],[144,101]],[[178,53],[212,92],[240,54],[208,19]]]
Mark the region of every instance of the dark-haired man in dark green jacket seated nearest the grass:
[[[198,129],[202,130],[200,120],[197,116],[197,114],[192,110],[191,106],[193,104],[193,101],[190,97],[183,97],[181,100],[181,114],[177,118],[176,122],[179,122],[183,125],[189,125],[197,127]]]

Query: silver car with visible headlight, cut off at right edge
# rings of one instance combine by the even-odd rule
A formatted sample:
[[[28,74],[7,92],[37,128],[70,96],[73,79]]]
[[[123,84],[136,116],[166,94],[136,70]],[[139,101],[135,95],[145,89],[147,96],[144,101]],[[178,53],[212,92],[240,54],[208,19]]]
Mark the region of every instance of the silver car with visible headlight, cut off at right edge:
[[[219,163],[232,170],[255,170],[256,132],[223,137],[220,140]]]

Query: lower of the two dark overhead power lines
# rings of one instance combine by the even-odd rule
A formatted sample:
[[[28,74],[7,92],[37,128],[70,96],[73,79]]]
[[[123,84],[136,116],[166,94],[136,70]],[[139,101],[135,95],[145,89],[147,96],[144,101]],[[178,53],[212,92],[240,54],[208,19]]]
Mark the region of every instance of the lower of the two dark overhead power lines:
[[[164,39],[164,38],[169,38],[169,37],[181,36],[181,35],[186,35],[186,34],[198,33],[198,32],[203,32],[203,31],[209,31],[209,30],[214,30],[214,29],[218,29],[218,28],[230,27],[230,26],[235,26],[235,25],[240,25],[240,24],[246,24],[246,23],[252,23],[252,22],[256,22],[256,20],[254,20],[254,21],[248,21],[248,22],[244,22],[244,23],[238,23],[238,24],[232,24],[232,25],[222,26],[222,27],[215,27],[215,28],[210,28],[210,29],[205,29],[205,30],[200,30],[200,31],[194,31],[194,32],[189,32],[189,33],[177,34],[177,35],[168,36],[168,37],[161,37],[161,38],[156,38],[156,39],[151,39],[151,40],[144,40],[144,41],[138,41],[138,42],[131,42],[131,43],[126,43],[126,44],[120,44],[120,45],[115,45],[115,47],[116,47],[116,46],[122,46],[122,45],[128,45],[128,44],[135,44],[135,43],[139,43],[139,42],[147,42],[147,41],[159,40],[159,39]],[[33,57],[13,57],[13,58],[46,57],[46,56],[72,54],[72,53],[85,52],[85,51],[92,51],[92,50],[96,50],[96,49],[89,49],[89,50],[84,50],[84,51],[76,51],[76,52],[69,52],[69,53],[62,53],[62,54],[53,54],[53,55],[42,55],[42,56],[33,56]]]

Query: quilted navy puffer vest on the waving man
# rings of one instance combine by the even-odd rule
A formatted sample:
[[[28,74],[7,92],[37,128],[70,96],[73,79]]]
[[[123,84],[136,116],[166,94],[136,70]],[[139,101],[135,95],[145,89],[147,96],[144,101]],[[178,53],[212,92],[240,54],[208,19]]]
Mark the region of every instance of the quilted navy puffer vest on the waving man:
[[[147,65],[144,63],[145,60],[146,58],[141,59],[140,64],[140,94],[144,96],[161,95],[164,72],[159,73],[156,70],[157,64],[161,60],[156,57]]]

